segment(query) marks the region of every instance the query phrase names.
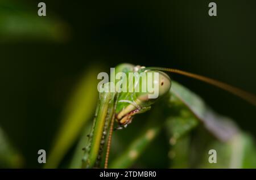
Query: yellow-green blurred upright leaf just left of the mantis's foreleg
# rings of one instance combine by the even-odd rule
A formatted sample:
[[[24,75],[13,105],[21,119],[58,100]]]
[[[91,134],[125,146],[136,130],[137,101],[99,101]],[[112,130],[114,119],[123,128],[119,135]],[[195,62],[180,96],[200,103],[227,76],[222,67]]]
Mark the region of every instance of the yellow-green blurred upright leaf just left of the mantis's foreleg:
[[[98,95],[98,72],[97,67],[89,68],[73,92],[65,111],[63,125],[53,142],[45,168],[56,168],[59,165],[65,153],[81,133],[82,127],[92,118]]]

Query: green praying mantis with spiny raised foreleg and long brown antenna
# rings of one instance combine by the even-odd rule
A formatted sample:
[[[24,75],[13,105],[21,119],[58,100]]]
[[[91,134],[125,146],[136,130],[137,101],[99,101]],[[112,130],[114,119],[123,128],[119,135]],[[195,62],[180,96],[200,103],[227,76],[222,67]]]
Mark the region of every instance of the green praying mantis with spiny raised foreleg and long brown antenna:
[[[84,157],[82,158],[82,168],[101,168],[103,166],[102,159],[105,160],[104,167],[108,168],[109,149],[112,140],[114,121],[116,121],[118,124],[115,129],[122,129],[123,127],[127,127],[127,125],[131,123],[135,114],[144,113],[147,110],[150,110],[152,104],[154,104],[158,99],[166,97],[168,95],[172,82],[170,77],[163,71],[173,72],[181,75],[186,75],[191,78],[199,79],[203,82],[207,82],[222,89],[225,89],[226,91],[229,91],[234,95],[237,95],[245,99],[246,101],[249,101],[253,105],[256,104],[255,96],[251,95],[250,93],[232,87],[228,84],[218,82],[217,80],[205,78],[204,76],[196,74],[191,74],[189,72],[174,70],[170,68],[141,67],[130,64],[118,65],[115,70],[115,74],[118,74],[118,72],[123,72],[123,74],[127,76],[129,73],[134,72],[144,73],[146,79],[141,78],[142,76],[139,76],[139,78],[137,79],[135,78],[135,76],[128,76],[129,78],[127,79],[127,82],[131,83],[123,83],[121,86],[115,88],[112,92],[100,92],[92,129],[90,131],[90,134],[88,135],[88,144],[84,149],[85,153]],[[150,73],[156,73],[157,77],[155,75],[153,79],[152,77],[149,78]],[[119,82],[123,82],[124,80],[125,78],[122,78]],[[150,98],[152,92],[148,91],[148,89],[147,91],[141,91],[143,87],[147,86],[148,84],[157,87],[157,97]],[[133,85],[133,87],[131,87],[131,85]],[[102,84],[103,88],[108,88],[110,86],[110,83]],[[139,90],[129,92],[119,91],[124,86],[126,86],[127,89]],[[177,89],[179,85],[175,85],[175,87],[175,90],[179,91],[179,89]],[[184,89],[181,88],[181,91],[182,90],[184,91]],[[179,96],[179,93],[177,93],[176,96]],[[184,104],[189,102],[191,101],[184,101]],[[193,111],[193,105],[191,107],[191,111],[197,116],[197,118],[204,119],[201,112],[197,112],[196,110]],[[218,131],[217,129],[212,129],[213,133]]]

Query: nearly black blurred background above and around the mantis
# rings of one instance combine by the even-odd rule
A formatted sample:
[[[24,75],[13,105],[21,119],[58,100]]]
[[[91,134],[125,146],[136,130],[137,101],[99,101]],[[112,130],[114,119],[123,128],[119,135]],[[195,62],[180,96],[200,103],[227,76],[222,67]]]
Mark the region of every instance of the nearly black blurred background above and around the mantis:
[[[39,1],[22,1],[35,11]],[[28,160],[49,147],[77,78],[91,64],[129,62],[195,72],[256,93],[256,2],[44,1],[68,24],[63,42],[0,44],[0,125]],[[61,32],[60,32],[61,33]],[[211,85],[171,75],[220,114],[256,135],[255,107]],[[32,160],[33,159],[33,160]]]

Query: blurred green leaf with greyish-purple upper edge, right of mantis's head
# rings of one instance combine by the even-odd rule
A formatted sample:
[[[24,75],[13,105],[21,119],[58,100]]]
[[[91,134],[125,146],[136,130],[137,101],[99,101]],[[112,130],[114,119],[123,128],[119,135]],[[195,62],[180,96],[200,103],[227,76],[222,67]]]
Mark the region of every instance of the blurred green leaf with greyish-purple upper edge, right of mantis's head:
[[[189,156],[194,156],[193,151],[189,150],[188,137],[184,137],[192,128],[196,127],[199,120],[203,123],[206,130],[211,132],[216,139],[206,138],[196,139],[200,142],[200,155],[196,155],[201,161],[201,168],[241,168],[243,160],[241,156],[245,154],[241,152],[241,147],[245,148],[245,138],[239,135],[239,130],[234,123],[225,117],[217,115],[210,110],[195,93],[189,89],[174,82],[172,83],[171,99],[169,104],[170,117],[166,122],[166,130],[170,136],[171,151],[169,157],[172,159],[171,168],[196,168],[197,164],[193,164]],[[206,131],[205,131],[206,133]],[[221,141],[219,141],[221,140]],[[214,142],[210,147],[205,148],[207,144]],[[247,151],[253,152],[250,148]],[[190,147],[191,148],[191,147]],[[218,159],[220,162],[217,164],[210,164],[208,161],[209,149],[216,149]],[[199,150],[197,148],[197,150]],[[236,152],[235,152],[236,151]],[[195,152],[194,152],[195,153]],[[234,155],[234,154],[237,155]],[[233,155],[232,155],[233,154]],[[203,157],[201,157],[203,155]],[[249,158],[247,158],[249,160]],[[249,161],[247,164],[251,164]]]

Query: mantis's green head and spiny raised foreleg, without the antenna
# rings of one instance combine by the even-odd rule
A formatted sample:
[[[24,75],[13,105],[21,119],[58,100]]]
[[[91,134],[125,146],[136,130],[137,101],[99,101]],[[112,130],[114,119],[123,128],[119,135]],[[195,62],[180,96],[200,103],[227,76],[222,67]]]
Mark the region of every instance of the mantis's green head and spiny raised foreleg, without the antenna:
[[[143,71],[143,68],[129,64],[119,65],[116,69],[116,73],[123,72],[125,74],[128,74],[129,72]],[[151,72],[154,71],[147,71],[146,76]],[[158,78],[150,83],[159,85],[158,98],[160,98],[166,95],[169,91],[171,87],[171,80],[164,72],[159,71],[158,73]],[[134,76],[131,76],[131,78],[128,79],[128,82],[133,82],[133,78]],[[141,81],[141,83],[138,81]],[[141,79],[137,79],[137,81],[135,80],[135,82],[126,85],[130,88],[131,85],[135,84],[134,88],[137,88],[138,86],[142,88],[143,86],[146,86],[147,83],[148,82],[145,81],[142,82]],[[110,84],[106,83],[104,85],[107,87]],[[118,90],[119,89],[116,89],[116,92],[100,93],[100,100],[96,110],[96,118],[94,119],[93,127],[89,135],[89,143],[85,148],[86,152],[83,159],[84,168],[93,168],[94,164],[97,165],[100,162],[102,152],[104,151],[104,144],[106,143],[106,137],[108,136],[110,122],[113,124],[114,119],[116,119],[119,124],[117,129],[126,127],[131,123],[135,114],[146,112],[150,109],[150,105],[156,100],[156,98],[148,98],[148,91],[119,93]]]

